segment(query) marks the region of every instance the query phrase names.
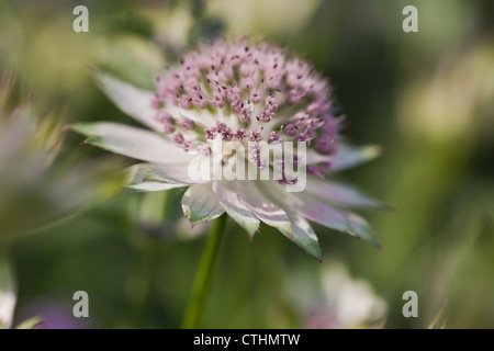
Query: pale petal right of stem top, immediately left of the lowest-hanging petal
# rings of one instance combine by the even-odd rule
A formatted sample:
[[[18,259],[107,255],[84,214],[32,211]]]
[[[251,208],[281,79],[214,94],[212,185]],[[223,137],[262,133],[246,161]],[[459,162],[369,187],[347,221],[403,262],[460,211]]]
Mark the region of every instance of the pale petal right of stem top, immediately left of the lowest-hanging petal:
[[[293,240],[292,227],[287,213],[268,199],[256,186],[255,181],[244,181],[238,186],[238,199],[263,223],[277,228]]]

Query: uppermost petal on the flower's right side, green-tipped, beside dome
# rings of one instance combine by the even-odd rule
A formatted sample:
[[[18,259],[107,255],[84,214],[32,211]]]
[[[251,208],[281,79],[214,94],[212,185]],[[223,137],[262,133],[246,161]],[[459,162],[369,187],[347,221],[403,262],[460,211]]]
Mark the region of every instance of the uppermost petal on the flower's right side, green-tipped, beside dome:
[[[370,161],[382,154],[382,149],[375,145],[362,147],[339,144],[336,155],[329,158],[333,171],[340,171]]]

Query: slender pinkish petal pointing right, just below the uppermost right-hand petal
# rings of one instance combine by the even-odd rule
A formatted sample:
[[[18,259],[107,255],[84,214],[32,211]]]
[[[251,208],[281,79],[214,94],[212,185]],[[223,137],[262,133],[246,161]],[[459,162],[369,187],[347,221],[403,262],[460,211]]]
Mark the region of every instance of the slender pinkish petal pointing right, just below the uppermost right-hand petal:
[[[308,178],[305,191],[325,202],[357,208],[385,208],[386,205],[363,194],[360,190],[334,181]]]

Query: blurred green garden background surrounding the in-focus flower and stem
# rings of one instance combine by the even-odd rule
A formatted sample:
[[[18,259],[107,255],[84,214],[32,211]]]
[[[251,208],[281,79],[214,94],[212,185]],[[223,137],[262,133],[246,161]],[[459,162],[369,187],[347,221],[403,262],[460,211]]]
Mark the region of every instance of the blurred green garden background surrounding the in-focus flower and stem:
[[[89,33],[72,31],[79,4]],[[408,4],[418,33],[402,30]],[[384,148],[338,177],[393,210],[366,214],[381,251],[314,226],[323,263],[267,226],[249,242],[229,220],[201,326],[427,328],[439,314],[446,328],[494,328],[493,16],[490,0],[1,1],[0,256],[16,282],[13,325],[180,327],[207,228],[184,222],[182,190],[121,191],[130,161],[63,126],[132,123],[90,65],[153,88],[198,41],[247,34],[330,79],[345,135]],[[72,316],[77,291],[89,318]],[[402,314],[406,291],[417,318]]]

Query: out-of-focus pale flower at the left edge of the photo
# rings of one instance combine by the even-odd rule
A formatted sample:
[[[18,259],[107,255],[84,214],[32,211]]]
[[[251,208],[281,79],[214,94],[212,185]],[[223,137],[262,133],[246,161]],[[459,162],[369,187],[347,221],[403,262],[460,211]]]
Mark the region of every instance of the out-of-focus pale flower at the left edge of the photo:
[[[109,162],[58,158],[63,107],[41,114],[34,99],[11,110],[14,79],[0,81],[0,237],[61,218],[89,201],[113,194],[121,178]],[[76,158],[74,158],[76,159]],[[29,214],[29,215],[27,215]]]

